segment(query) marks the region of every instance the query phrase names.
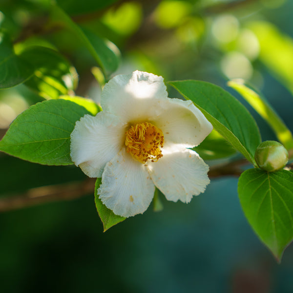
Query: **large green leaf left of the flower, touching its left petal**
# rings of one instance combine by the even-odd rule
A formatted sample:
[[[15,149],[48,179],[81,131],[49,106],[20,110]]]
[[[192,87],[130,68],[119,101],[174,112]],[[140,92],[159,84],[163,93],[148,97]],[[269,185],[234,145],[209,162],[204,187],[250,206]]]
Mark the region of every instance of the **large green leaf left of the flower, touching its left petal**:
[[[43,165],[70,165],[70,134],[76,121],[90,114],[70,101],[49,100],[29,107],[11,124],[0,150]]]

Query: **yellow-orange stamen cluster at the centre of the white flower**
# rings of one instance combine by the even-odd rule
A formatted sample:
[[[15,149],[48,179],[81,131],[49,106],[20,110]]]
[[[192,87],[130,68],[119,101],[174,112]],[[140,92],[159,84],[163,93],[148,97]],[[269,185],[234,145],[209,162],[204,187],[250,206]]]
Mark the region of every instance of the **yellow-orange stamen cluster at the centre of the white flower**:
[[[141,163],[157,162],[162,155],[164,135],[160,128],[148,122],[138,123],[126,131],[126,151]]]

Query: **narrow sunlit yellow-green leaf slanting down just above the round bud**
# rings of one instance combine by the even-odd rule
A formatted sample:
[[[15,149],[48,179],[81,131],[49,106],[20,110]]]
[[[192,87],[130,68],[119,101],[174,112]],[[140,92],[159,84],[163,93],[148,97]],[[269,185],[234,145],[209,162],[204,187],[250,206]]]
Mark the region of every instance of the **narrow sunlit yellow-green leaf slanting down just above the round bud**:
[[[272,106],[251,87],[237,81],[230,81],[230,87],[235,89],[255,109],[255,111],[271,126],[278,140],[287,148],[293,149],[293,137],[291,131],[284,124]]]

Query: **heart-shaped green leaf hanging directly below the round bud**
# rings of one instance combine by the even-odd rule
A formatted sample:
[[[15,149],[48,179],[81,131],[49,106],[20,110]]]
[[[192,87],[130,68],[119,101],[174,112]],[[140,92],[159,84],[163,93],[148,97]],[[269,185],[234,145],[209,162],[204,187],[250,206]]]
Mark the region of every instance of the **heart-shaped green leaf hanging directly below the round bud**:
[[[293,240],[293,173],[246,170],[238,193],[252,229],[280,262]]]

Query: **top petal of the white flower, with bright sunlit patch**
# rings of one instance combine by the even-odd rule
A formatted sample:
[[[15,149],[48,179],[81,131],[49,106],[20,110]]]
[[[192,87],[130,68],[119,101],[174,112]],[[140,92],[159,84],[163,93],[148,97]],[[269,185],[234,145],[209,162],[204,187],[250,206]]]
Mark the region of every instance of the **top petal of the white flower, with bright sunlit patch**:
[[[128,123],[147,121],[162,112],[160,103],[167,99],[163,81],[161,76],[141,71],[116,75],[105,84],[101,106]]]

